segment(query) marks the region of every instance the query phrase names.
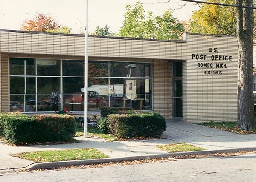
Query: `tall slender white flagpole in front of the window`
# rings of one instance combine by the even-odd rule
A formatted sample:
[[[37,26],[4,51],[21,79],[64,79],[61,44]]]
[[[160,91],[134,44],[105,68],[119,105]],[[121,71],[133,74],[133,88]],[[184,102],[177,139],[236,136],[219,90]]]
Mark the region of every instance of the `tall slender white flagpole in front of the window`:
[[[85,54],[84,54],[84,137],[88,133],[88,0],[86,0]]]

